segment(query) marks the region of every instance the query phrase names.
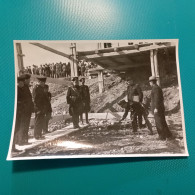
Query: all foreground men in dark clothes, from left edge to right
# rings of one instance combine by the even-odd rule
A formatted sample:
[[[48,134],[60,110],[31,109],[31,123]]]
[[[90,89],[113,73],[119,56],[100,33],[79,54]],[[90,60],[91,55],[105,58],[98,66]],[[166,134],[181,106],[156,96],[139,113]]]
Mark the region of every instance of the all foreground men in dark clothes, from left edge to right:
[[[46,84],[47,77],[37,76],[38,84],[30,91],[30,74],[22,74],[18,77],[18,98],[16,123],[13,140],[13,152],[18,152],[17,145],[28,145],[29,143],[29,126],[31,115],[35,113],[34,120],[34,138],[37,140],[44,139],[44,134],[48,133],[48,123],[52,115],[51,93],[49,86]],[[90,111],[90,91],[85,85],[85,78],[73,77],[72,85],[68,88],[66,99],[69,104],[69,114],[72,116],[74,129],[79,129],[79,121],[83,123],[83,114],[85,114],[86,123],[89,123],[88,112]],[[79,84],[80,81],[80,84]],[[172,138],[172,134],[165,120],[165,108],[162,89],[157,85],[154,76],[149,78],[152,87],[151,91],[151,111],[154,114],[156,129],[160,140]],[[138,128],[143,128],[142,120],[153,135],[153,129],[148,120],[149,104],[143,102],[143,92],[138,84],[133,80],[127,79],[127,102],[122,100],[118,104],[125,109],[124,115],[119,122],[124,120],[128,113],[131,116],[131,126],[133,132]]]

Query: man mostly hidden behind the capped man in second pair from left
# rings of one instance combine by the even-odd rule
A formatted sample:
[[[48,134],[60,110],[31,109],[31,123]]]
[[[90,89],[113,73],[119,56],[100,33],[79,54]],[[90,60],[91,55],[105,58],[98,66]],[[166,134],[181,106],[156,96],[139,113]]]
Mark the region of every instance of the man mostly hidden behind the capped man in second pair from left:
[[[44,92],[45,92],[46,97],[47,97],[46,109],[45,109],[45,126],[43,128],[43,133],[45,134],[45,133],[49,133],[48,124],[49,124],[49,120],[51,119],[51,115],[52,115],[51,93],[49,92],[49,86],[48,85],[44,86]]]

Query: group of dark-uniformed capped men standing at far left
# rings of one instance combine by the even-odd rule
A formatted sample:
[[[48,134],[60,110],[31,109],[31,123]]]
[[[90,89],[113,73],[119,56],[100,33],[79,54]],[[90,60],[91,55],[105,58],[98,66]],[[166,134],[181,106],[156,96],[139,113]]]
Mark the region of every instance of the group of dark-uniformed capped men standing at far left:
[[[31,115],[35,113],[34,138],[44,139],[48,132],[48,122],[51,118],[51,93],[45,84],[46,77],[38,77],[38,84],[30,91],[30,74],[23,74],[17,78],[17,112],[15,121],[14,141],[12,150],[17,152],[15,145],[28,145],[28,132]]]

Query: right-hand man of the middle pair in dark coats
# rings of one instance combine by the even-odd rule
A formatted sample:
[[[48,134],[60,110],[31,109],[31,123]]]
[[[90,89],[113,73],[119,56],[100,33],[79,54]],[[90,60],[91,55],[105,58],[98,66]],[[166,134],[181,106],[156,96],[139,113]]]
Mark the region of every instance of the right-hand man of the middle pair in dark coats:
[[[82,93],[82,113],[80,115],[81,122],[83,123],[83,113],[85,113],[86,123],[89,123],[88,120],[88,112],[90,111],[90,94],[89,87],[85,85],[85,78],[80,79],[81,85],[81,93]]]

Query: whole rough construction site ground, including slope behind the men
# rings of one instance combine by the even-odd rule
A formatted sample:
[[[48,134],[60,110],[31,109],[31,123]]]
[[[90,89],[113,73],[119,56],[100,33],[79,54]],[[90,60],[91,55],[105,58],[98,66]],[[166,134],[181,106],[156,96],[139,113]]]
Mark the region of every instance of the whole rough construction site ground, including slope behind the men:
[[[17,157],[40,157],[68,155],[125,155],[125,154],[178,154],[184,153],[184,132],[180,110],[179,88],[175,77],[168,79],[169,85],[164,85],[164,103],[166,119],[174,140],[158,140],[158,134],[152,115],[149,119],[153,125],[154,135],[149,135],[147,127],[133,133],[130,117],[122,123],[118,121],[124,110],[118,102],[126,98],[125,81],[116,75],[105,77],[104,93],[99,94],[97,78],[87,79],[91,94],[91,112],[89,125],[81,129],[73,129],[71,117],[66,103],[67,86],[51,84],[53,119],[49,124],[50,133],[44,140],[33,139],[33,118],[29,131],[27,146],[17,146],[23,150],[16,153]],[[144,96],[149,97],[151,88],[148,83],[140,84]]]

